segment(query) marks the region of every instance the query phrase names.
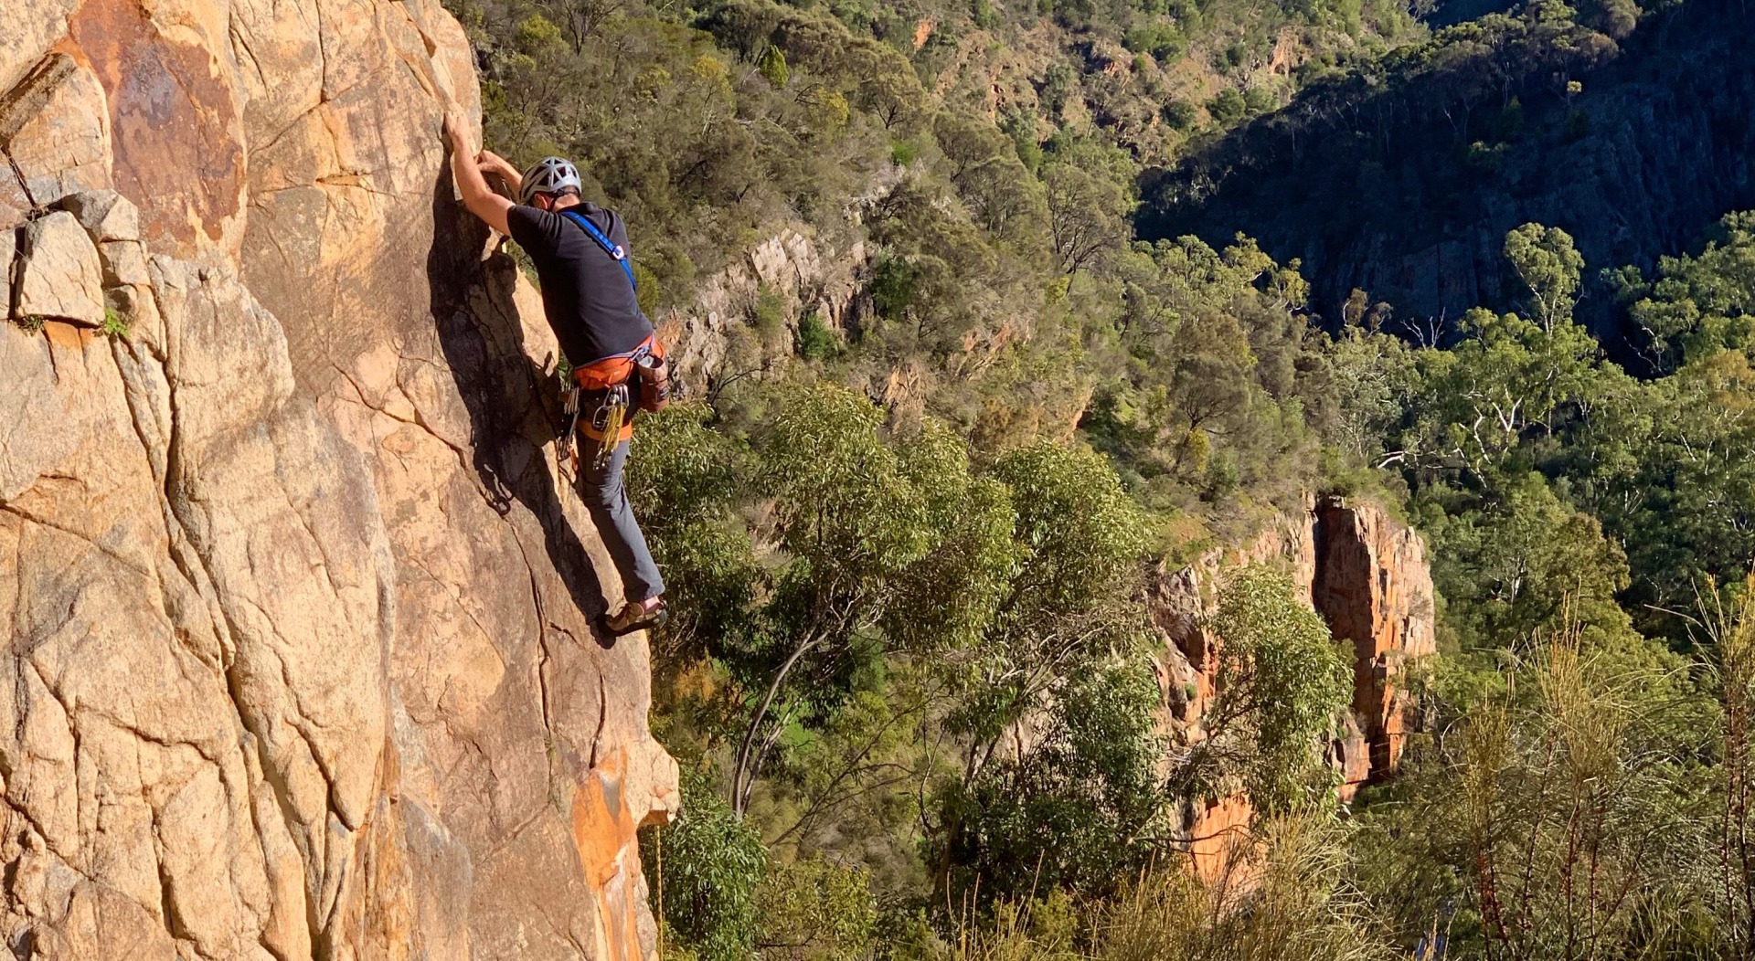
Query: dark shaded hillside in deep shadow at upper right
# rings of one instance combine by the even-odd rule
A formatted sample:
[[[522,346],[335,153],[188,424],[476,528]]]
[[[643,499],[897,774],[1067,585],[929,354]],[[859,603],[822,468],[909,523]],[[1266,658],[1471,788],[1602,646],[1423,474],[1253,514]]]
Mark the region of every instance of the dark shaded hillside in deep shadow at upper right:
[[[1325,314],[1364,289],[1404,331],[1443,337],[1467,309],[1520,296],[1499,249],[1523,223],[1565,230],[1594,268],[1650,270],[1755,207],[1748,11],[1581,7],[1458,23],[1192,144],[1144,175],[1141,233],[1244,231],[1302,258]],[[1581,316],[1650,372],[1616,293],[1587,277]]]

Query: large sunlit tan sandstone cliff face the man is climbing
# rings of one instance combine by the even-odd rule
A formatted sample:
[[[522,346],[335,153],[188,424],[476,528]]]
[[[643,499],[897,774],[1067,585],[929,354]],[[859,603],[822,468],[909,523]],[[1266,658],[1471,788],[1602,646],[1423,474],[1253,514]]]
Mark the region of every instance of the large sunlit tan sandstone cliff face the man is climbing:
[[[644,957],[677,803],[432,0],[0,16],[0,933]],[[95,324],[125,321],[126,337]]]

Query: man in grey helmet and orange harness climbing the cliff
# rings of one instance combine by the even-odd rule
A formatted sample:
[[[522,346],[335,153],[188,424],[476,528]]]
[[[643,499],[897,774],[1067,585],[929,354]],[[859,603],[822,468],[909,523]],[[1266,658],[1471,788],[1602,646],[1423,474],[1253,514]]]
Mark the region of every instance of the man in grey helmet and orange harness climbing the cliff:
[[[667,619],[663,579],[621,482],[634,405],[656,409],[665,393],[663,347],[635,296],[627,224],[579,196],[572,163],[548,156],[519,174],[495,153],[476,151],[462,110],[446,110],[444,126],[463,205],[530,254],[544,314],[579,384],[577,430],[597,444],[588,445],[595,456],[579,456],[577,489],[627,594],[605,626],[612,635],[660,626]],[[518,203],[495,193],[488,174],[504,181]]]

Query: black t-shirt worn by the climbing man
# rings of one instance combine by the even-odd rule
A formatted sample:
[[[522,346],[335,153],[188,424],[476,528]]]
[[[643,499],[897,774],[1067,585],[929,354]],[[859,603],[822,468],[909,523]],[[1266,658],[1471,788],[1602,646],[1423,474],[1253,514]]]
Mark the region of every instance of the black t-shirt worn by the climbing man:
[[[612,244],[628,249],[628,228],[597,203],[569,207],[584,214]],[[562,352],[574,367],[641,345],[653,331],[634,298],[634,284],[616,258],[572,219],[535,207],[505,212],[512,240],[530,254],[542,282],[542,309]]]

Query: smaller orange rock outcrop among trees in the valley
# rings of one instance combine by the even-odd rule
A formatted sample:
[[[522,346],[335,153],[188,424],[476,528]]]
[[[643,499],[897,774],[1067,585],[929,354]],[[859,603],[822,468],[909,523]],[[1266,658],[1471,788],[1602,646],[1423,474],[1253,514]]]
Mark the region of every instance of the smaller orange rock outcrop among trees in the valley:
[[[1341,498],[1307,502],[1236,552],[1211,552],[1165,572],[1150,587],[1148,609],[1164,645],[1158,686],[1172,744],[1206,737],[1204,715],[1225,640],[1207,619],[1227,575],[1258,563],[1283,565],[1304,603],[1353,649],[1351,715],[1330,747],[1341,800],[1395,770],[1411,728],[1399,677],[1409,661],[1434,654],[1432,573],[1420,537],[1381,507]],[[1253,817],[1248,798],[1190,798],[1183,831],[1206,877],[1223,872],[1230,842]]]

